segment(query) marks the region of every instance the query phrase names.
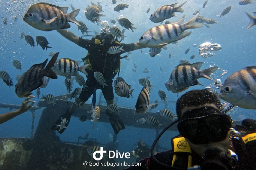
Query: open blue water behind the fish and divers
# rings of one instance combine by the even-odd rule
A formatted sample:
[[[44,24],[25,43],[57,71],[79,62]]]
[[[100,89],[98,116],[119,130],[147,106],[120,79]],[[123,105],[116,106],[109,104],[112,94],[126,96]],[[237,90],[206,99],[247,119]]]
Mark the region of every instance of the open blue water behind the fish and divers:
[[[87,50],[79,47],[78,45],[69,42],[67,39],[63,38],[56,31],[44,32],[34,29],[33,27],[26,24],[22,17],[28,7],[31,4],[41,2],[41,1],[1,1],[0,2],[0,14],[1,21],[4,18],[8,19],[8,24],[4,25],[1,22],[0,29],[0,70],[5,70],[9,73],[11,78],[13,78],[13,83],[16,84],[15,79],[16,74],[21,75],[23,72],[27,71],[33,64],[41,63],[48,57],[48,54],[51,51],[60,52],[58,58],[71,58],[73,60],[80,60],[87,54]],[[91,21],[87,21],[83,10],[87,7],[87,2],[76,0],[76,1],[44,1],[47,3],[55,4],[58,6],[69,6],[72,5],[75,8],[80,7],[80,12],[76,19],[78,21],[83,21],[86,26],[89,28],[89,35],[94,35],[93,31],[100,33],[100,26],[93,24]],[[89,1],[88,1],[89,2]],[[94,1],[97,3],[96,1]],[[121,3],[126,3],[129,5],[129,8],[121,10],[120,13],[115,12],[113,8],[118,4],[112,4],[111,0],[100,1],[103,7],[102,14],[106,17],[101,17],[101,20],[106,20],[110,23],[110,26],[113,24],[110,22],[110,19],[117,20],[119,15],[123,15],[125,18],[128,18],[137,30],[132,32],[131,30],[125,30],[124,35],[126,38],[122,43],[134,43],[137,42],[142,36],[142,34],[148,29],[157,26],[158,23],[153,23],[149,20],[150,14],[156,8],[166,4],[172,4],[180,1],[170,1],[162,0],[160,1],[122,1]],[[167,50],[162,49],[159,53],[161,56],[155,56],[151,58],[149,54],[149,48],[143,48],[141,50],[132,51],[132,54],[129,55],[130,61],[122,59],[121,60],[121,69],[120,76],[125,79],[125,81],[132,85],[134,88],[133,98],[122,98],[119,97],[118,105],[125,106],[129,108],[135,108],[137,97],[142,89],[142,86],[138,83],[138,79],[145,78],[146,76],[152,76],[149,80],[155,86],[151,91],[151,101],[158,100],[158,90],[164,90],[167,95],[167,100],[176,101],[178,99],[177,95],[171,91],[167,91],[164,86],[164,82],[168,81],[169,76],[173,69],[179,64],[180,59],[189,60],[191,63],[203,61],[205,62],[201,69],[206,69],[209,65],[215,64],[221,69],[228,70],[228,73],[221,76],[223,73],[221,70],[217,70],[214,73],[214,79],[221,79],[224,83],[224,80],[231,75],[232,73],[250,65],[256,64],[255,57],[255,44],[256,44],[256,26],[246,29],[249,24],[249,18],[246,16],[245,11],[250,14],[253,14],[256,11],[255,3],[249,5],[238,5],[238,1],[213,1],[210,0],[206,8],[202,9],[204,0],[189,0],[184,6],[184,13],[176,13],[177,17],[167,19],[168,21],[175,22],[182,18],[185,15],[185,21],[188,21],[193,17],[192,13],[201,10],[200,16],[205,18],[211,18],[218,21],[218,24],[210,25],[210,28],[202,27],[198,29],[193,29],[192,34],[189,37],[186,37],[177,44],[168,44]],[[178,5],[179,5],[178,4]],[[90,4],[91,5],[91,4]],[[231,6],[232,9],[229,14],[223,17],[217,17],[216,15],[220,14],[224,8]],[[146,10],[151,7],[150,12],[146,14]],[[68,13],[71,12],[69,8]],[[14,15],[18,15],[18,20],[14,22]],[[71,28],[69,30],[77,36],[82,36],[82,33],[77,30],[77,26],[74,23],[70,23]],[[120,29],[123,28],[120,26]],[[47,52],[41,48],[41,46],[32,47],[25,42],[24,39],[19,40],[21,32],[24,32],[26,35],[30,35],[34,38],[36,36],[44,36],[49,42]],[[221,51],[216,51],[216,55],[204,59],[198,54],[198,46],[204,42],[219,43],[222,46]],[[193,44],[197,44],[196,47],[192,47]],[[184,54],[185,50],[190,47],[188,54]],[[171,58],[169,58],[169,53],[171,53]],[[126,54],[126,53],[125,53]],[[124,55],[125,55],[124,54]],[[195,59],[191,60],[190,56],[196,55]],[[123,55],[122,55],[123,56]],[[12,65],[12,60],[19,60],[22,64],[22,70],[17,70]],[[134,68],[133,63],[137,65],[137,71],[133,72]],[[145,68],[150,70],[149,73],[143,73]],[[164,72],[160,70],[160,67],[163,68]],[[48,86],[45,89],[41,88],[41,94],[52,94],[54,96],[66,94],[67,90],[64,85],[64,77],[58,76],[56,80],[50,80]],[[204,86],[193,86],[188,90],[192,89],[202,89],[206,86],[212,84],[212,81],[208,79],[201,78],[199,82]],[[73,89],[80,87],[78,84],[74,83]],[[24,98],[18,98],[14,93],[14,86],[10,88],[0,80],[0,103],[7,104],[21,104]],[[187,90],[187,91],[188,91]],[[186,91],[185,91],[186,92]],[[36,95],[36,91],[33,91],[33,94]],[[100,91],[97,91],[99,96]],[[180,93],[179,96],[184,94]],[[114,94],[114,96],[117,96]],[[40,96],[41,97],[41,96]],[[39,101],[37,97],[35,101]],[[91,98],[86,102],[91,103]],[[159,104],[157,110],[164,109],[164,104]],[[168,109],[175,113],[175,103],[168,103]],[[8,109],[0,109],[0,113],[8,112]],[[156,111],[156,110],[155,110]],[[36,111],[35,118],[35,129],[39,122],[42,109]],[[232,112],[232,118],[234,120],[242,120],[245,118],[256,119],[255,110],[241,109],[236,108]],[[31,121],[32,116],[31,112],[26,112],[2,125],[0,125],[0,137],[31,137]],[[136,120],[131,120],[136,121]],[[110,124],[106,123],[95,123],[94,130],[91,129],[91,122],[80,122],[78,118],[72,118],[69,129],[67,129],[63,134],[59,135],[61,140],[64,141],[77,141],[78,136],[84,136],[88,131],[90,137],[97,138],[97,141],[105,143],[109,141],[109,134],[113,134],[112,127]],[[35,132],[34,129],[34,132]],[[85,132],[86,130],[86,132]],[[152,145],[155,139],[155,130],[148,129],[137,129],[133,127],[126,127],[126,129],[121,130],[118,134],[117,140],[119,141],[119,149],[125,150],[125,148],[132,148],[132,146],[137,143],[140,138],[143,138],[144,142],[148,145]],[[176,132],[168,132],[160,140],[160,145],[166,148],[170,148],[170,139],[174,136]]]

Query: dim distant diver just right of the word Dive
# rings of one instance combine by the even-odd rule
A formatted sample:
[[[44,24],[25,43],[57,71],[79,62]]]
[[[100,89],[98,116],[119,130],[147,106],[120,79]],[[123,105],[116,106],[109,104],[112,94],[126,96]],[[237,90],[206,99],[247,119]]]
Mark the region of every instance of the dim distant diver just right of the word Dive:
[[[140,141],[137,143],[137,148],[134,150],[134,153],[132,153],[132,156],[134,156],[136,158],[136,162],[138,162],[149,155],[150,148],[148,148],[148,145],[143,143],[142,139],[140,139]]]

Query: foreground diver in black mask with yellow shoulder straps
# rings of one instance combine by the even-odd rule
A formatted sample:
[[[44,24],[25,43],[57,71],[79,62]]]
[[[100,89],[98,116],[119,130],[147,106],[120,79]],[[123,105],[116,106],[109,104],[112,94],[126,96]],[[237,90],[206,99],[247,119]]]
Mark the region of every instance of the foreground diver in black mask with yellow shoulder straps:
[[[142,166],[127,169],[255,169],[256,121],[245,119],[242,125],[232,125],[231,117],[225,114],[230,108],[222,109],[217,96],[208,90],[186,92],[176,103],[178,120],[156,138],[151,157],[141,160]],[[180,135],[172,138],[172,150],[154,155],[160,136],[177,122]]]

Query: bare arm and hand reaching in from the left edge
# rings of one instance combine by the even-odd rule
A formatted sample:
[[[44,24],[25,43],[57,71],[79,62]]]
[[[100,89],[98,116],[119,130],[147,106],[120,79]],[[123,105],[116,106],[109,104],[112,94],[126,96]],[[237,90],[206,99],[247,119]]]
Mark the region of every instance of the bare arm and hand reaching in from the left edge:
[[[26,97],[26,99],[22,102],[22,105],[21,105],[20,109],[0,115],[0,124],[5,123],[5,122],[13,119],[14,117],[28,111],[29,108],[31,108],[35,103],[35,101],[29,100],[29,99],[32,99],[32,98],[35,98],[35,96],[30,95],[30,96]],[[30,105],[28,105],[29,102],[31,102]]]

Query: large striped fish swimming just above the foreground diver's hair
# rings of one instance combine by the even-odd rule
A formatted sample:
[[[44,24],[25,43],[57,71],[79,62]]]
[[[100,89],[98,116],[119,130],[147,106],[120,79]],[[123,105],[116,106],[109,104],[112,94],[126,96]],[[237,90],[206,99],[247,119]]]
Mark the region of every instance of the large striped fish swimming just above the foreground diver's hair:
[[[218,67],[210,67],[205,70],[199,70],[203,62],[196,62],[193,64],[179,64],[172,71],[169,81],[165,82],[165,87],[168,91],[179,93],[190,86],[200,84],[197,79],[204,77],[214,81],[210,75],[218,69]],[[215,81],[214,81],[215,82]]]

